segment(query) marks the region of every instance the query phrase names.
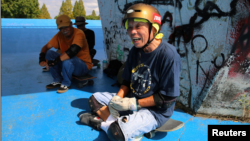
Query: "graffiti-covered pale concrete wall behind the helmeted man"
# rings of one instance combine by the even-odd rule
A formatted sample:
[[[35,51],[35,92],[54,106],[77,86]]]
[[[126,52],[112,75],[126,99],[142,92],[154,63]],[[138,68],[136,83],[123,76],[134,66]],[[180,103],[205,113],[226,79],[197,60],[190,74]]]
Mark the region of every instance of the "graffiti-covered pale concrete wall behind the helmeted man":
[[[126,61],[133,45],[122,18],[138,2],[159,10],[163,40],[181,55],[179,101],[199,113],[242,116],[239,100],[250,100],[249,1],[98,0],[109,60]]]

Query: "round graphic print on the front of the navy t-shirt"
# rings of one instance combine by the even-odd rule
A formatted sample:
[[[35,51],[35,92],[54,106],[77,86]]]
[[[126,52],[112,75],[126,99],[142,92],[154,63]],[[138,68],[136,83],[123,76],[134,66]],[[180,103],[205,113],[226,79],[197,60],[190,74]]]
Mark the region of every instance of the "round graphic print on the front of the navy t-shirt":
[[[145,64],[139,64],[132,69],[132,79],[130,88],[135,95],[146,94],[151,87],[151,73],[150,69]]]

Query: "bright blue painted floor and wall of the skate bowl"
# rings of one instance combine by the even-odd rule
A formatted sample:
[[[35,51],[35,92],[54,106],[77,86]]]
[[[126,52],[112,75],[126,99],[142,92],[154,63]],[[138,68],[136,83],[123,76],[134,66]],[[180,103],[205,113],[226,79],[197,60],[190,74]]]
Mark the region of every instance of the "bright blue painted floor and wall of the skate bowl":
[[[31,22],[22,19],[21,23]],[[96,34],[98,53],[95,58],[103,60],[102,29],[98,26],[92,29]],[[71,89],[63,94],[45,88],[52,78],[49,72],[42,72],[38,56],[42,46],[56,32],[56,28],[1,28],[2,141],[108,141],[103,131],[79,124],[78,116],[89,111],[87,100],[92,93],[117,92],[119,88],[111,86],[115,79],[103,74],[102,69],[92,69],[90,74],[97,77],[93,86],[77,88],[73,81]],[[144,137],[143,141],[206,141],[208,125],[249,125],[193,117],[178,109],[172,118],[184,122],[185,126],[174,132],[157,132],[153,139]]]

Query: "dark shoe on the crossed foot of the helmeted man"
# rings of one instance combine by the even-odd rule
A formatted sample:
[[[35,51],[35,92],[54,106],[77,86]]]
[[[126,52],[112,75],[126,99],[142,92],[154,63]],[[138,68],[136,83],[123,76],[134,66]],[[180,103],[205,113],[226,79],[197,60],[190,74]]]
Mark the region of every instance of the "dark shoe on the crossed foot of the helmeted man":
[[[95,130],[101,131],[101,123],[103,120],[100,117],[91,113],[84,113],[79,116],[79,120],[81,123],[88,125]]]

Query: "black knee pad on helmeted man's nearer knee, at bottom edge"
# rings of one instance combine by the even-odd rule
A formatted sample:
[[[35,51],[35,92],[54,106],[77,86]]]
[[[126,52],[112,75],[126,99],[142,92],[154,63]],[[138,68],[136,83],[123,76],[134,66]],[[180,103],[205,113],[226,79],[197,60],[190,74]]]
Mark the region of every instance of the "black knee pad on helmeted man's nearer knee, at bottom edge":
[[[111,141],[125,141],[124,135],[117,120],[110,124],[107,135]]]

